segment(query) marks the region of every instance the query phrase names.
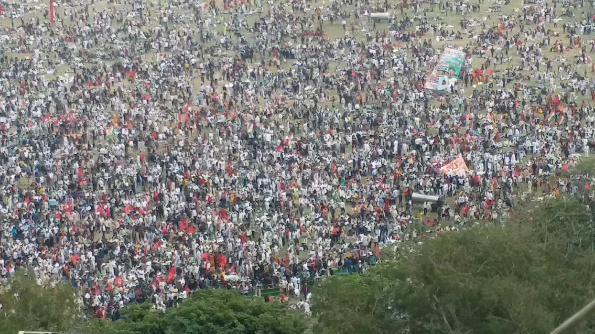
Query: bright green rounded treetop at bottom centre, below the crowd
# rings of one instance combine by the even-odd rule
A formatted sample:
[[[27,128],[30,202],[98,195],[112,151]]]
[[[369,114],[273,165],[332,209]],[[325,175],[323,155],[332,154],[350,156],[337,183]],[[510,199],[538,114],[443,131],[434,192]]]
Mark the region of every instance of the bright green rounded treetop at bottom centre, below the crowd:
[[[94,332],[114,334],[302,334],[305,319],[281,303],[243,297],[223,289],[199,290],[179,308],[166,313],[151,309],[151,303],[133,305],[122,320],[104,323]]]

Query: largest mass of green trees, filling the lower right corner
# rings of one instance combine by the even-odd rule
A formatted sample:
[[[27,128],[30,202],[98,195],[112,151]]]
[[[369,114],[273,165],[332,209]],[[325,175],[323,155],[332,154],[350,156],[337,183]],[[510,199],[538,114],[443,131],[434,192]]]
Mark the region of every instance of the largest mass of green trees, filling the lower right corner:
[[[549,332],[595,297],[590,213],[559,198],[527,214],[533,221],[442,235],[398,263],[322,282],[314,332]]]

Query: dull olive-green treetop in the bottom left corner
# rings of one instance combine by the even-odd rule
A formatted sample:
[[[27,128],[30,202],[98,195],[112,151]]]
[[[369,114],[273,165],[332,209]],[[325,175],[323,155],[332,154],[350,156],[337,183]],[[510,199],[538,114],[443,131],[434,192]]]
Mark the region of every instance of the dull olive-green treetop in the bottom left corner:
[[[31,275],[18,272],[10,279],[8,289],[0,294],[0,333],[73,329],[81,321],[74,294],[73,286],[67,282],[55,289],[45,289]]]

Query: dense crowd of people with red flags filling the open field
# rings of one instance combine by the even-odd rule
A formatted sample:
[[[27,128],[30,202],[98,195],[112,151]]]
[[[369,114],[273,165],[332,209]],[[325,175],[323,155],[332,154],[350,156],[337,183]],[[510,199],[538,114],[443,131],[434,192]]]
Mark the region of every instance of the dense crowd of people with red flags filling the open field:
[[[112,319],[209,287],[308,313],[317,279],[583,191],[550,178],[595,138],[572,5],[0,1],[0,279]],[[447,47],[464,72],[425,90]]]

